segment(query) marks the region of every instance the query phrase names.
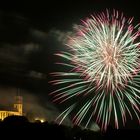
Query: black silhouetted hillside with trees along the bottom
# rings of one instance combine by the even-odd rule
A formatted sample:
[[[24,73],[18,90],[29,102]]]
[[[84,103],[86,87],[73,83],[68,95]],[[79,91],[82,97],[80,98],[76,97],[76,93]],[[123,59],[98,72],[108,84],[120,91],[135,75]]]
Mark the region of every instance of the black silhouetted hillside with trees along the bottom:
[[[11,116],[0,122],[0,137],[5,139],[38,140],[99,140],[138,138],[140,129],[112,129],[106,132],[94,132],[78,126],[68,127],[48,122],[29,122],[25,117]]]

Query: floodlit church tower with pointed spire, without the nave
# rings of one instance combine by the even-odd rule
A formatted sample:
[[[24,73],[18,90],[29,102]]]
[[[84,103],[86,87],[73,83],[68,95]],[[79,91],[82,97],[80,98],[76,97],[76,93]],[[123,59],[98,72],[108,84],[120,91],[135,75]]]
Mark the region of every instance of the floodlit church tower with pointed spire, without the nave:
[[[17,95],[15,97],[14,108],[19,112],[19,114],[23,115],[23,104],[22,104],[22,96],[19,94],[19,89],[17,89]]]

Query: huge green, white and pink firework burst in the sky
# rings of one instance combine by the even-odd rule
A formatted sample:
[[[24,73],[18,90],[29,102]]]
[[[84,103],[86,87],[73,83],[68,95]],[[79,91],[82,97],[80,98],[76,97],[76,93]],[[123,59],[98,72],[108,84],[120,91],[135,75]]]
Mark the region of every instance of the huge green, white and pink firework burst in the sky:
[[[135,114],[140,122],[140,31],[132,21],[133,18],[126,19],[115,10],[112,15],[108,10],[92,15],[70,37],[67,43],[70,52],[56,54],[67,61],[59,64],[70,71],[53,73],[59,79],[51,82],[64,87],[51,94],[54,101],[60,102],[76,97],[77,104],[78,97],[80,100],[83,97],[73,118],[75,124],[87,120],[87,127],[93,117],[106,130],[114,118],[115,127],[119,128],[121,120],[125,125],[126,114],[131,118]],[[62,113],[64,118],[70,112],[68,107]]]

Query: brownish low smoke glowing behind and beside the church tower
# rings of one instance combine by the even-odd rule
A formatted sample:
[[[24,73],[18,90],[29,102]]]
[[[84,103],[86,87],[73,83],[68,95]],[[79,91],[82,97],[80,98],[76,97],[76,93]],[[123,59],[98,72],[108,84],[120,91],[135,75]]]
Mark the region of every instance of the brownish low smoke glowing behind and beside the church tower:
[[[35,95],[33,91],[20,89],[20,95],[23,97],[23,112],[29,121],[35,121],[36,118],[53,122],[59,115],[59,110],[48,100],[42,103],[42,98]],[[12,110],[17,95],[16,87],[1,86],[0,87],[0,109]],[[69,119],[66,125],[71,125]]]

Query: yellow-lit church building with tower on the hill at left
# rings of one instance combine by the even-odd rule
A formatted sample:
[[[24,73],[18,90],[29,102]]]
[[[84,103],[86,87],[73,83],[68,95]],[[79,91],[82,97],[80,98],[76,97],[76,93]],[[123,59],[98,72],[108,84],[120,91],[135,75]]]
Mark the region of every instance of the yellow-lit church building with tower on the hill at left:
[[[23,115],[23,101],[22,96],[19,95],[19,89],[17,90],[17,95],[15,96],[15,103],[12,109],[0,110],[0,120],[8,116],[22,116]]]

